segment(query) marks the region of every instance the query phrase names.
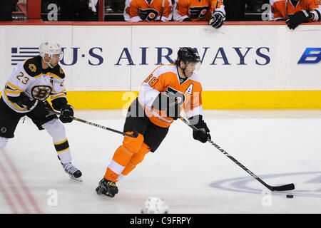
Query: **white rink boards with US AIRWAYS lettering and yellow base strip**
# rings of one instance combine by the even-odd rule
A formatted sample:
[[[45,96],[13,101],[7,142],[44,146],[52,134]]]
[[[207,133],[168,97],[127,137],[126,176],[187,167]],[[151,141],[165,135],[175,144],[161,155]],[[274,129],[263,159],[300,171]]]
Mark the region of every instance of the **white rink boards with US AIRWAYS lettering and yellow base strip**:
[[[178,48],[200,54],[203,108],[321,108],[321,24],[0,24],[0,86],[44,39],[63,47],[75,108],[127,108],[141,82]]]

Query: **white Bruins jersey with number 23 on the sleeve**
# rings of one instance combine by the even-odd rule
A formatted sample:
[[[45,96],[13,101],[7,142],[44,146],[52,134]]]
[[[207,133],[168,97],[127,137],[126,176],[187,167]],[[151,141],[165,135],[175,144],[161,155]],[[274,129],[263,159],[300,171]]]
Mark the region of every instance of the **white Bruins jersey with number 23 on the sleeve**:
[[[41,56],[29,58],[18,63],[2,91],[4,102],[17,113],[27,113],[26,105],[14,103],[12,99],[24,93],[30,100],[45,101],[51,96],[51,101],[56,98],[66,98],[66,88],[63,85],[65,73],[57,64],[54,68],[43,69]]]

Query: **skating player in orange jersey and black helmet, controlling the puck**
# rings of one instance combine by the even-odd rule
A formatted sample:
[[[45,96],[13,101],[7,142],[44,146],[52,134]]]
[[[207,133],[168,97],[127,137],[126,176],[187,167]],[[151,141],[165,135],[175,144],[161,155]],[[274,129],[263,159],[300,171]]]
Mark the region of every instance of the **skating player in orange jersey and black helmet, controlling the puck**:
[[[200,56],[193,48],[180,48],[175,64],[158,66],[143,81],[123,128],[126,133],[138,133],[138,137],[124,137],[96,187],[98,195],[114,197],[118,193],[116,182],[142,162],[148,152],[156,151],[170,124],[180,117],[181,109],[190,124],[201,130],[193,131],[193,138],[200,142],[210,139],[203,120],[202,85],[193,73],[199,64]]]

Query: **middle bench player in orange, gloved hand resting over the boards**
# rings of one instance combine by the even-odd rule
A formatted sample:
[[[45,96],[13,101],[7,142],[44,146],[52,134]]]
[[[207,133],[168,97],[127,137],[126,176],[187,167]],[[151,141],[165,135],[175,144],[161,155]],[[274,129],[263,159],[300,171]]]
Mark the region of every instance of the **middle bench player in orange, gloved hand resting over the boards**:
[[[225,21],[223,0],[175,0],[174,21],[209,21],[220,28]]]

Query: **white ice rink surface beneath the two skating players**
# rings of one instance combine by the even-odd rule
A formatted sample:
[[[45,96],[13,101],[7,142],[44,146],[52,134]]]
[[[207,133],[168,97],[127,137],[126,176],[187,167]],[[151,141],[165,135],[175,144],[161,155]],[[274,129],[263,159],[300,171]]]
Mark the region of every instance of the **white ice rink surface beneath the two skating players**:
[[[117,130],[126,110],[76,110],[75,116]],[[73,164],[69,179],[51,137],[29,118],[0,151],[0,213],[140,213],[149,196],[171,214],[321,213],[321,110],[205,110],[212,139],[268,185],[270,192],[210,143],[193,140],[182,121],[128,177],[113,199],[95,188],[123,137],[77,121],[66,124]],[[288,199],[287,194],[294,198]]]

